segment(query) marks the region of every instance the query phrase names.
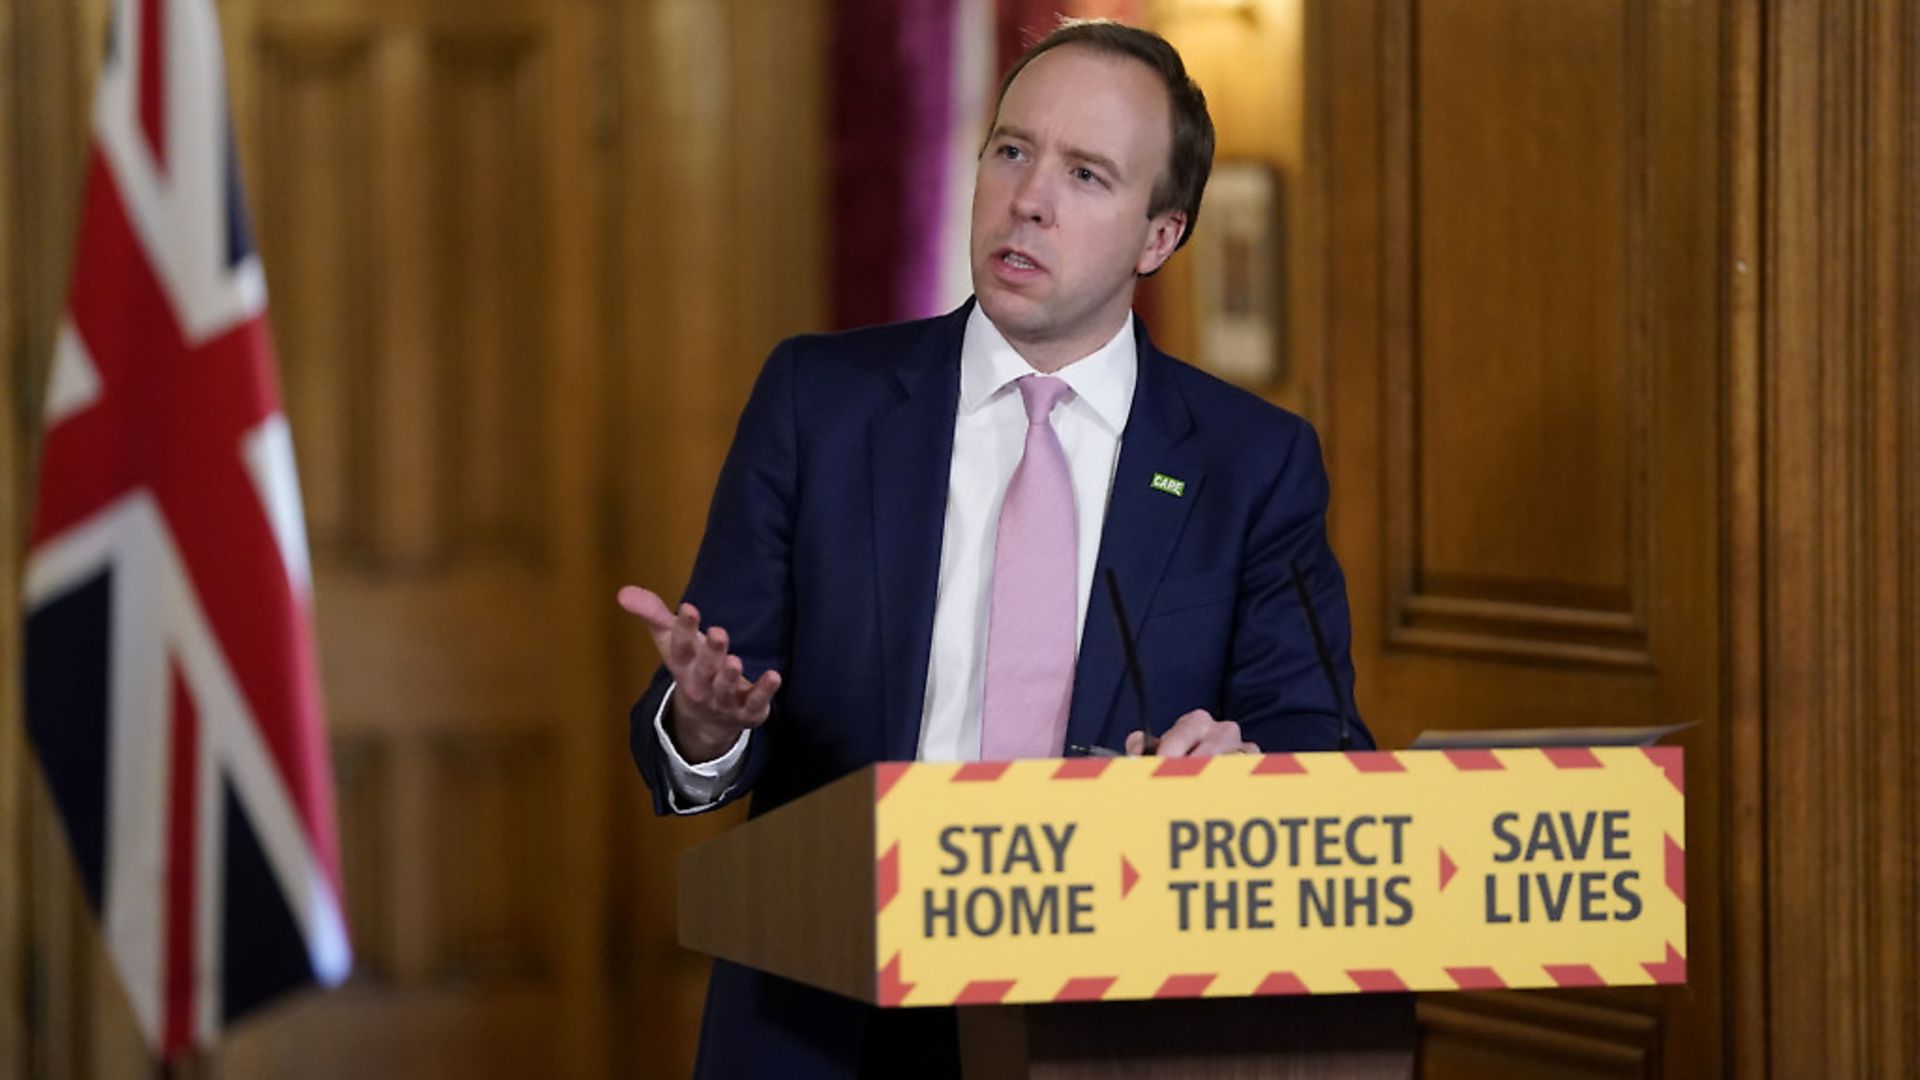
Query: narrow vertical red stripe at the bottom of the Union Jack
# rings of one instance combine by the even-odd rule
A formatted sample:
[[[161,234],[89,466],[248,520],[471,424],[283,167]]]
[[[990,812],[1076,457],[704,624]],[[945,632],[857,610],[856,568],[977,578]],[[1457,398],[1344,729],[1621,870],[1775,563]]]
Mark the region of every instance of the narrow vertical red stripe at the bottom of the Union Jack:
[[[194,1045],[194,871],[200,832],[200,713],[177,667],[167,792],[167,969],[161,1053]]]

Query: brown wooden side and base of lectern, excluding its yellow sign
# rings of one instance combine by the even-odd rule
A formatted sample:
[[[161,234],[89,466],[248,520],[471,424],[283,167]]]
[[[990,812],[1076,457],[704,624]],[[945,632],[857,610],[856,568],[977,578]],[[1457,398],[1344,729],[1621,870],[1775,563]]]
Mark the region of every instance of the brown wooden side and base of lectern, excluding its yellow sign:
[[[874,790],[868,767],[682,855],[680,944],[881,1005]],[[1411,994],[960,1007],[968,1080],[1398,1080],[1413,1043]]]

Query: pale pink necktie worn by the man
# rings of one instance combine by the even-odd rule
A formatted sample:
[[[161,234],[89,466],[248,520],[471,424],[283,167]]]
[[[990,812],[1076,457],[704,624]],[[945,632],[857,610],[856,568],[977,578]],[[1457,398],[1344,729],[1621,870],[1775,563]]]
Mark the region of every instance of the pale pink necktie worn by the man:
[[[1073,390],[1052,377],[1021,377],[1027,448],[1000,503],[987,609],[983,761],[1058,757],[1073,696],[1073,621],[1079,615],[1079,546],[1073,480],[1048,415]]]

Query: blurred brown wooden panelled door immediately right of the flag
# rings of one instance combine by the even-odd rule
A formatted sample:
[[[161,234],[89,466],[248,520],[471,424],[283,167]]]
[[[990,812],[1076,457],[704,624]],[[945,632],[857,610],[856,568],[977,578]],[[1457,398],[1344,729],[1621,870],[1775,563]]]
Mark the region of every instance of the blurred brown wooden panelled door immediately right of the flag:
[[[599,12],[223,4],[357,953],[225,1078],[605,1072]]]

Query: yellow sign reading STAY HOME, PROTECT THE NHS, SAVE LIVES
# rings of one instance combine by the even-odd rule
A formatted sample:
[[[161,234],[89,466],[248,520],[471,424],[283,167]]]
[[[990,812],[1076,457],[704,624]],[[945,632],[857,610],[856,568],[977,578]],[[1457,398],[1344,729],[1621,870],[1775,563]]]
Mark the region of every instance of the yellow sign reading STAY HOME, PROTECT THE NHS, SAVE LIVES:
[[[1678,748],[874,776],[883,1005],[1686,982]]]

